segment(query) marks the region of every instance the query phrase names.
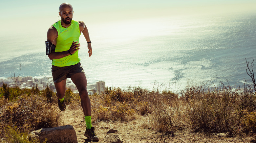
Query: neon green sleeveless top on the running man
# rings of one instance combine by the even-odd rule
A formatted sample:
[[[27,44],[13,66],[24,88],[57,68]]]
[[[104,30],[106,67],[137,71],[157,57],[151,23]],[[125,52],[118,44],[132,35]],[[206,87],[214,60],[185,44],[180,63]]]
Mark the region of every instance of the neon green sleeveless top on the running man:
[[[61,26],[61,22],[58,21],[53,24],[58,31],[58,37],[56,39],[57,44],[55,52],[67,51],[70,49],[72,42],[78,41],[81,35],[79,24],[77,21],[72,20],[72,23],[69,27],[65,28]],[[77,64],[81,59],[78,57],[78,50],[69,56],[65,56],[60,59],[53,59],[53,66],[65,67]]]

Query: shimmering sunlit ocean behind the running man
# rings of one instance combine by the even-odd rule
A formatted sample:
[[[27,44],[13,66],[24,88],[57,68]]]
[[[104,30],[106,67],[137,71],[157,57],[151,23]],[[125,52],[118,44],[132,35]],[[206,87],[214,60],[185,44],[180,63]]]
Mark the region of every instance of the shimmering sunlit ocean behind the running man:
[[[178,91],[187,85],[251,82],[245,58],[251,63],[256,54],[256,13],[145,18],[87,28],[93,55],[88,56],[81,35],[79,57],[88,84]],[[1,78],[19,71],[20,76],[51,76],[47,30],[1,35]]]

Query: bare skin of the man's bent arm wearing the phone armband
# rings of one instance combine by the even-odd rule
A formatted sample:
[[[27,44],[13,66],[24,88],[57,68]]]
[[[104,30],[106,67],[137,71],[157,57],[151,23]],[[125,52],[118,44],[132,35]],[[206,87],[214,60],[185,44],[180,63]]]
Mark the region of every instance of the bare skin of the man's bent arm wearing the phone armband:
[[[51,26],[48,31],[47,31],[47,40],[49,40],[51,43],[53,43],[54,45],[57,44],[56,39],[58,37],[58,31],[56,30],[56,28],[54,28],[53,26]],[[76,44],[77,42],[72,43],[69,52],[71,54],[74,54],[75,51],[79,50],[80,48],[80,43]],[[48,55],[48,57],[52,60],[52,59],[59,59],[59,58],[63,58],[65,56],[69,56],[68,51],[63,51],[63,52],[51,52],[51,54]]]

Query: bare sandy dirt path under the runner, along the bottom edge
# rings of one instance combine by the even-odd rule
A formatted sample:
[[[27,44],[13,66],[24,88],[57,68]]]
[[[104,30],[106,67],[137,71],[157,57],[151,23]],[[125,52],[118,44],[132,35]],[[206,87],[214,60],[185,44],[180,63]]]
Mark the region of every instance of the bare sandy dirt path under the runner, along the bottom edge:
[[[86,130],[86,123],[81,108],[67,105],[61,118],[61,125],[72,125],[75,128],[78,143],[91,142],[83,135]],[[129,122],[100,121],[93,123],[93,126],[99,137],[99,143],[104,141],[104,137],[108,135],[107,132],[110,129],[118,130],[115,134],[122,136],[123,143],[256,143],[256,136],[239,138],[216,134],[207,137],[202,134],[185,134],[183,132],[176,133],[173,137],[163,136],[154,130],[143,129],[142,124],[144,122],[143,117],[138,117],[138,119]]]

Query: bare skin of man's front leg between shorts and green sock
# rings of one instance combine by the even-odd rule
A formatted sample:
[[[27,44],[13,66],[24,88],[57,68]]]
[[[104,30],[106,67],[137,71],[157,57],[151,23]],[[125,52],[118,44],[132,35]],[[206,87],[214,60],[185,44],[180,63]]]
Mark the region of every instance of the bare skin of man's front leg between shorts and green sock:
[[[75,73],[74,75],[71,76],[71,80],[73,81],[73,83],[75,84],[79,92],[84,116],[91,116],[91,101],[86,89],[87,80],[86,80],[85,74],[83,72]]]

